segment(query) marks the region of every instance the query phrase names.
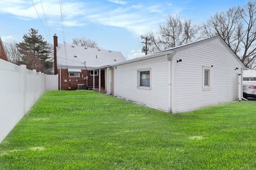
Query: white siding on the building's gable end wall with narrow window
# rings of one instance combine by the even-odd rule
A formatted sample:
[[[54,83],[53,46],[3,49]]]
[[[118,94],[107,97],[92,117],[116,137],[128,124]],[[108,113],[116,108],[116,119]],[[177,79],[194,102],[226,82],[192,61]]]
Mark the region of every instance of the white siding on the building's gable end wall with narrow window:
[[[180,50],[175,55],[176,112],[237,100],[237,74],[241,64],[219,39]],[[211,65],[213,65],[211,67]],[[202,67],[210,68],[210,90],[204,90]],[[235,70],[239,67],[238,70]]]

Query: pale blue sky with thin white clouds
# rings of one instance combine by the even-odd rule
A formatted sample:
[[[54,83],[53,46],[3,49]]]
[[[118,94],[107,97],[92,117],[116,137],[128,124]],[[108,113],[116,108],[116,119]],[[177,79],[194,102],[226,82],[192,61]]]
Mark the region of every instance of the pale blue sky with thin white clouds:
[[[44,18],[43,8],[46,16]],[[21,41],[28,29],[35,28],[51,43],[54,33],[63,43],[60,1],[33,0],[43,22],[42,26],[31,0],[0,0],[0,37],[6,43]],[[190,18],[201,24],[215,12],[244,5],[243,0],[62,0],[63,27],[67,44],[72,38],[85,37],[97,41],[103,49],[121,51],[127,58],[138,57],[140,35],[156,31],[168,15]],[[49,31],[48,31],[49,29]]]

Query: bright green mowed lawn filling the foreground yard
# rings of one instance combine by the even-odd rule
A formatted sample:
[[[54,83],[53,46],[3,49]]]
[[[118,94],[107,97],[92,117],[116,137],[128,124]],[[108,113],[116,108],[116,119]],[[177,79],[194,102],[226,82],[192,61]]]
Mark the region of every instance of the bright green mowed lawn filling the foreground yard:
[[[256,169],[256,103],[168,114],[46,92],[0,143],[0,169]]]

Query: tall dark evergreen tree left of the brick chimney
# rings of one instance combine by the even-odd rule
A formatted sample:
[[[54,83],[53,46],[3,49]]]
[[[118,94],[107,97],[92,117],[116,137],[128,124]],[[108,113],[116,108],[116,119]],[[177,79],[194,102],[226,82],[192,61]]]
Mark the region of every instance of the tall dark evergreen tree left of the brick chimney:
[[[33,28],[23,35],[22,43],[17,44],[22,57],[22,64],[26,64],[30,70],[36,69],[49,74],[53,67],[52,45],[44,40],[38,30]]]

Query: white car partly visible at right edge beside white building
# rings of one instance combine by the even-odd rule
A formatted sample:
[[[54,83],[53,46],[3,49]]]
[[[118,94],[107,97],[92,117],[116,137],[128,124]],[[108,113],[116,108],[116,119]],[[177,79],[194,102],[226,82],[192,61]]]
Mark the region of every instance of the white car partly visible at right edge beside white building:
[[[243,97],[256,98],[256,81],[243,81]]]

